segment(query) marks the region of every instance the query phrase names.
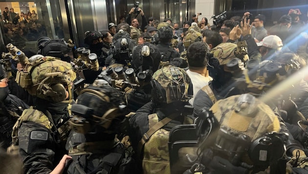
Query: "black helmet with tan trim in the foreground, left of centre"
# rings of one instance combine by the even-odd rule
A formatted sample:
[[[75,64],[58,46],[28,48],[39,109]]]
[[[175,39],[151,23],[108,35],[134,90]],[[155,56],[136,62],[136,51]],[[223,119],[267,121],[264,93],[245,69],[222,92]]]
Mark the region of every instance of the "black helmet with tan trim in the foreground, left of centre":
[[[69,124],[76,132],[86,134],[99,126],[101,132],[112,133],[127,114],[124,95],[108,83],[98,81],[103,80],[96,80],[93,85],[83,89],[77,104],[72,105],[74,117]]]

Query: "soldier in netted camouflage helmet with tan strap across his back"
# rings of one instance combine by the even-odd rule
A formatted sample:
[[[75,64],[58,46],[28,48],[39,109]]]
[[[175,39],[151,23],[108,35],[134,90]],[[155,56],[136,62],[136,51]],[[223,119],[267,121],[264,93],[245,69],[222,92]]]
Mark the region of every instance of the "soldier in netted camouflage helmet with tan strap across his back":
[[[165,65],[153,74],[151,85],[152,102],[130,116],[129,135],[144,174],[169,173],[169,131],[192,123],[184,113],[192,94],[190,78],[183,69]]]

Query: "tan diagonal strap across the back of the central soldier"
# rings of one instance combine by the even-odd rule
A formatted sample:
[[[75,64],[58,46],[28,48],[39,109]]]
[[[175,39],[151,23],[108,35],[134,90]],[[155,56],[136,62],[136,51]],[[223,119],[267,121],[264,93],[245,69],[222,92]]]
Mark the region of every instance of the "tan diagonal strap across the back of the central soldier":
[[[153,115],[153,114],[151,114]],[[157,115],[157,114],[156,114]],[[162,119],[161,121],[159,121],[158,123],[156,123],[154,126],[152,126],[149,131],[147,131],[146,133],[143,134],[141,140],[138,143],[138,152],[139,154],[141,154],[143,145],[150,139],[150,137],[159,129],[161,129],[163,126],[165,126],[166,124],[168,124],[170,121],[172,121],[173,119],[175,119],[176,117],[178,117],[180,114],[179,113],[173,113],[170,116]],[[150,115],[149,115],[150,116]],[[150,121],[149,121],[150,122]]]

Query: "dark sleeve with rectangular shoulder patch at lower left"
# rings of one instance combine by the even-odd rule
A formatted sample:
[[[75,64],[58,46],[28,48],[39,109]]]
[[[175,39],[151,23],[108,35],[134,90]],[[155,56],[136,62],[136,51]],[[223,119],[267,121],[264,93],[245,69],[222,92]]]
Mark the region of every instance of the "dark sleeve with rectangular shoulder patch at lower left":
[[[18,130],[24,174],[49,174],[53,170],[55,143],[44,126],[34,122],[22,123]]]

